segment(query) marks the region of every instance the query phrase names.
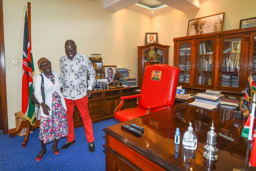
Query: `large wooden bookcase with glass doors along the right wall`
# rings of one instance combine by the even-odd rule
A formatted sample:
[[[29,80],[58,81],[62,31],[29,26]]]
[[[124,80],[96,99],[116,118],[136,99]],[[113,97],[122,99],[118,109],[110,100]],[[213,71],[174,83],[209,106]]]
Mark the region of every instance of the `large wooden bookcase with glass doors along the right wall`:
[[[174,38],[179,86],[241,94],[256,80],[256,27]]]

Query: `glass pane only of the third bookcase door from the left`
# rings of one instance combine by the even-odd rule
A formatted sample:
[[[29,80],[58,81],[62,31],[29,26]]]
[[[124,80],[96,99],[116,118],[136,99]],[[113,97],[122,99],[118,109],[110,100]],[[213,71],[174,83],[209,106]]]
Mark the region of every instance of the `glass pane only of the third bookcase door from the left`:
[[[223,40],[222,87],[239,87],[241,38]]]

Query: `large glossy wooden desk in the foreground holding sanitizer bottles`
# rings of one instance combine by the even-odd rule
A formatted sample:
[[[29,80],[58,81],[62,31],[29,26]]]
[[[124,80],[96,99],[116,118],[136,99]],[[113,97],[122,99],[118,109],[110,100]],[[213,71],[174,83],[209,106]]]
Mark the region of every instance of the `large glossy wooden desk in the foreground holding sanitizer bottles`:
[[[155,112],[144,117],[125,121],[109,126],[106,132],[106,170],[205,170],[203,158],[207,132],[214,120],[215,131],[233,138],[230,141],[217,136],[218,160],[211,165],[216,170],[232,170],[244,167],[246,141],[241,135],[241,120],[234,119],[233,111],[193,107],[180,103],[171,108]],[[184,154],[191,151],[182,149],[182,134],[191,121],[197,133],[197,150],[192,154],[195,158],[184,162]],[[144,127],[144,135],[137,137],[121,128],[130,123]],[[180,128],[181,137],[178,157],[174,154],[174,134],[176,127]],[[206,163],[205,166],[203,163]]]

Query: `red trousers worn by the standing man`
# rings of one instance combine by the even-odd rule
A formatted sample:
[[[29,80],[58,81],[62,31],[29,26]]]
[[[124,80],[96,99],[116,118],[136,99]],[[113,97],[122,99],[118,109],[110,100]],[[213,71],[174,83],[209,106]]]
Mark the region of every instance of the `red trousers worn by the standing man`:
[[[84,132],[86,132],[86,138],[88,143],[94,142],[94,135],[93,135],[93,124],[92,119],[90,119],[89,110],[88,110],[88,97],[84,96],[81,99],[71,100],[65,99],[66,108],[66,119],[68,120],[69,126],[69,134],[66,136],[68,138],[68,142],[72,142],[75,140],[75,133],[74,133],[74,121],[73,121],[73,114],[75,106],[80,113],[80,117],[83,121],[83,128]]]

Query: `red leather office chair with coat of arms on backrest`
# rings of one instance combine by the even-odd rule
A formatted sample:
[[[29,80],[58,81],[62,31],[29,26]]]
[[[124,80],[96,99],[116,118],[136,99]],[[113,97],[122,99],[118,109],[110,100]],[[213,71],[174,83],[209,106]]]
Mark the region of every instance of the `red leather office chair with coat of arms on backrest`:
[[[141,94],[120,97],[114,118],[123,122],[174,105],[180,69],[166,64],[145,67]],[[126,99],[139,97],[138,107],[121,110]]]

